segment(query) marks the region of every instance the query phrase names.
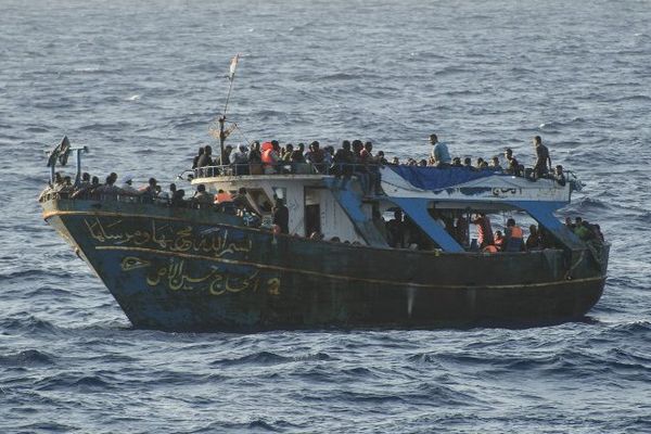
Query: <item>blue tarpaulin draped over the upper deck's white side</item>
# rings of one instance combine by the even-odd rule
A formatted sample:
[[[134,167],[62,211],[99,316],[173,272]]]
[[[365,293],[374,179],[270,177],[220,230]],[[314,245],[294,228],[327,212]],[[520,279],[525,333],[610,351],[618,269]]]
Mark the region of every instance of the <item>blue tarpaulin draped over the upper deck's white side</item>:
[[[467,167],[419,167],[419,166],[386,166],[400,178],[421,190],[442,190],[493,175],[501,175],[489,169],[472,170]]]

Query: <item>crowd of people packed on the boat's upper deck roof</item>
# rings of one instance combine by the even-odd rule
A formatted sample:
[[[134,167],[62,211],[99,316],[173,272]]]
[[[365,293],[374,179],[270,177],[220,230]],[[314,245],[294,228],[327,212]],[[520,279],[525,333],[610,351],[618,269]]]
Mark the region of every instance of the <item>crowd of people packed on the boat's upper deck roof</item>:
[[[539,136],[534,137],[533,142],[536,161],[531,169],[525,169],[524,165],[520,164],[510,148],[505,150],[503,166],[498,155],[488,161],[478,157],[474,163],[471,157],[452,158],[447,144],[439,142],[436,135],[430,136],[433,148],[429,158],[407,158],[405,163],[400,163],[397,156],[387,159],[383,151],[374,153],[373,143],[370,141],[344,140],[341,148],[335,150],[332,145],[321,146],[318,141],[312,141],[306,149],[304,143],[295,146],[292,143],[281,145],[279,141],[271,140],[261,144],[258,141],[253,142],[251,149],[244,144],[238,148],[227,145],[224,153],[217,157],[213,156],[212,146],[201,146],[193,158],[192,168],[197,169],[200,176],[329,174],[344,177],[344,182],[355,175],[365,192],[378,189],[379,166],[400,164],[438,168],[464,167],[469,170],[492,170],[529,179],[550,178],[564,186],[566,179],[563,167],[552,167],[549,150],[542,144]],[[206,171],[206,167],[216,169]]]

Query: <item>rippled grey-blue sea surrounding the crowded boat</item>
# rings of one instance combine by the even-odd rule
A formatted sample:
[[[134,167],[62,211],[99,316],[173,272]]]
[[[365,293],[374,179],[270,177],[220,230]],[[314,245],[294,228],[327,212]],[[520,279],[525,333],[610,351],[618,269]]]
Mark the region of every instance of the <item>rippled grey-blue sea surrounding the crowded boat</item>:
[[[1,433],[651,432],[651,2],[0,0]],[[612,243],[577,322],[133,330],[43,220],[44,150],[167,183],[229,106],[250,140],[514,150]],[[232,143],[244,138],[233,133]]]

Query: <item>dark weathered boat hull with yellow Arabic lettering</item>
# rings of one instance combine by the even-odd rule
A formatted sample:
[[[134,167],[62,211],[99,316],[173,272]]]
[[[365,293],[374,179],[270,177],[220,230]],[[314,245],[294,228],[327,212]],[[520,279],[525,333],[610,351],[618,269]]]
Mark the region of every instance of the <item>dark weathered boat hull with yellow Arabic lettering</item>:
[[[436,254],[317,242],[214,210],[49,201],[46,219],[95,270],[136,328],[547,323],[599,299],[608,248]]]

